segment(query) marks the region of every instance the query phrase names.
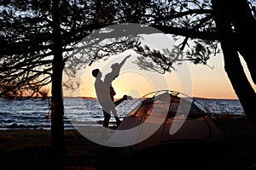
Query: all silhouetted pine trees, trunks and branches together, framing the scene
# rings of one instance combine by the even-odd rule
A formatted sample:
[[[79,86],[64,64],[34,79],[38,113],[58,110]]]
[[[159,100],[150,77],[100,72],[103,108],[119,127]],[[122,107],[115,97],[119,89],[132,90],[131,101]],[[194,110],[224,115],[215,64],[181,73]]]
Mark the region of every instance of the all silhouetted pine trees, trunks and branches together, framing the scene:
[[[139,23],[172,34],[180,42],[184,59],[195,64],[207,65],[207,59],[221,52],[221,48],[230,82],[247,116],[256,122],[255,92],[239,60],[240,54],[255,83],[253,1],[3,0],[0,4],[0,94],[7,94],[10,89],[14,95],[26,90],[38,93],[51,82],[52,144],[58,150],[64,148],[61,75],[69,54],[92,31],[118,23]],[[177,60],[169,62],[165,58],[172,52],[161,54],[126,40],[116,43],[136,48],[143,54],[137,64],[147,65],[151,59],[160,64],[160,72],[172,71]],[[96,54],[90,61],[108,57]]]

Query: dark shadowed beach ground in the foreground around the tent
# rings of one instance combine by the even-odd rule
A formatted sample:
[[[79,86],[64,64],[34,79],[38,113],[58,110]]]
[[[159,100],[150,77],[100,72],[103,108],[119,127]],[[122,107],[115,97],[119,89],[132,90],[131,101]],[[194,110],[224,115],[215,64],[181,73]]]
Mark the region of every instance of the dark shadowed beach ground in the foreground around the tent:
[[[231,147],[186,148],[128,156],[121,148],[96,144],[76,129],[65,130],[67,152],[50,147],[50,131],[0,131],[0,169],[256,169],[256,137],[245,116],[218,116],[216,124]]]

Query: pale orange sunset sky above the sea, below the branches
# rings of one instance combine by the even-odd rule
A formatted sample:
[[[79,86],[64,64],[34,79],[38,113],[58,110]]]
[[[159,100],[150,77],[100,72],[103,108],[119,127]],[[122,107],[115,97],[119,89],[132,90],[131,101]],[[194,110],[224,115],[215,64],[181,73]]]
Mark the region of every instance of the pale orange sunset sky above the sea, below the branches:
[[[168,44],[165,38],[148,38],[147,42],[157,48],[165,48]],[[106,61],[99,61],[84,69],[81,77],[80,88],[73,96],[96,97],[94,81],[91,71],[99,68],[103,75],[111,71],[110,66],[113,63],[119,63],[126,55],[131,54],[125,65],[121,68],[119,77],[113,80],[113,88],[116,91],[115,98],[121,98],[124,94],[132,97],[141,97],[155,90],[169,89],[183,94],[189,94],[193,97],[209,99],[237,99],[236,94],[230,84],[227,74],[224,71],[224,59],[222,54],[212,56],[208,65],[194,65],[189,62],[183,62],[182,65],[176,65],[177,71],[168,72],[165,75],[152,71],[140,70],[134,60],[136,54],[127,52],[113,56]],[[246,65],[244,65],[247,71]],[[247,75],[248,71],[247,71]],[[191,81],[190,81],[191,80]],[[252,80],[250,82],[253,84]],[[256,86],[253,85],[256,89]],[[190,91],[189,91],[190,90]],[[189,92],[188,92],[189,91]]]

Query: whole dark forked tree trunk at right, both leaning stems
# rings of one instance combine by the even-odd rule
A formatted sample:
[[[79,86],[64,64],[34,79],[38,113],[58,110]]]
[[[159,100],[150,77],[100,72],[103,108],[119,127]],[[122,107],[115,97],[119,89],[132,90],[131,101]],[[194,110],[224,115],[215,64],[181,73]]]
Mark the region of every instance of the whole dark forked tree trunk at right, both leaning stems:
[[[225,7],[225,8],[224,8]],[[248,82],[239,54],[245,59],[253,82],[256,82],[255,44],[256,20],[247,1],[218,1],[212,0],[214,18],[218,29],[219,41],[224,53],[224,69],[230,82],[241,101],[249,119],[256,123],[253,113],[253,103],[256,94]]]

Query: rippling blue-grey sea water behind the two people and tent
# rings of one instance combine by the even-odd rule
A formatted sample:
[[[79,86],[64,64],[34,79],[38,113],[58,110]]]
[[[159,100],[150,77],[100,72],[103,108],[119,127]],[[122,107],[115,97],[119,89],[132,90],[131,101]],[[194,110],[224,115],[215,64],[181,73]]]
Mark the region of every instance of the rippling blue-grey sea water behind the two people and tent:
[[[196,99],[216,114],[244,115],[237,99]],[[126,100],[117,107],[119,116],[125,115],[136,106],[137,100]],[[96,99],[64,98],[64,127],[98,125],[103,120],[102,107]],[[114,123],[113,117],[110,123]],[[0,130],[50,129],[50,99],[6,99],[0,98]]]

